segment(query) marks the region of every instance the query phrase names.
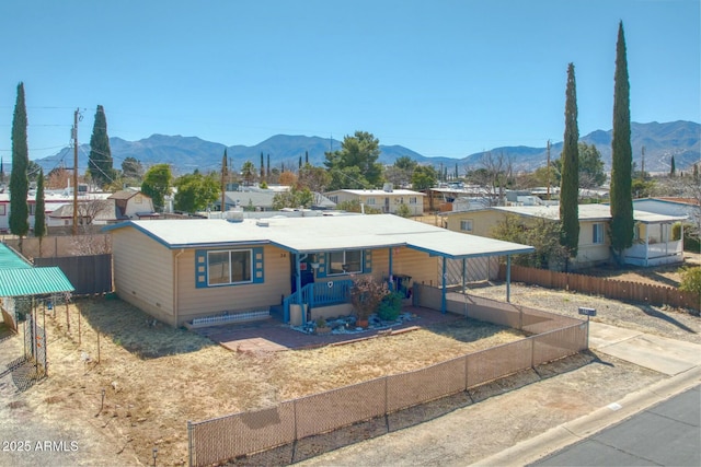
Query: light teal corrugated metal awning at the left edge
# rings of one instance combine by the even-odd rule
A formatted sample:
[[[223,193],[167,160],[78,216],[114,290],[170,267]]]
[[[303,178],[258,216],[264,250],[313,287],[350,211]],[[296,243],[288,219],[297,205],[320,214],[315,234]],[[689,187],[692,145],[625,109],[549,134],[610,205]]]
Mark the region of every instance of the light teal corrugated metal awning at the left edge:
[[[49,295],[76,290],[58,267],[0,269],[0,296]]]

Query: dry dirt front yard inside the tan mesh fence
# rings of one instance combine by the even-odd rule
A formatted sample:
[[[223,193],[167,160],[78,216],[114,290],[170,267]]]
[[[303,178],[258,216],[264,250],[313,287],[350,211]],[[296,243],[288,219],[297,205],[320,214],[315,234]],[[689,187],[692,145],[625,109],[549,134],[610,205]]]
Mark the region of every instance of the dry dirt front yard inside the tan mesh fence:
[[[195,332],[153,326],[118,300],[70,304],[70,330],[66,306],[55,311],[55,317],[46,315],[49,377],[16,400],[48,425],[69,420],[88,428],[80,445],[88,450],[99,443],[119,465],[149,465],[154,447],[159,465],[186,464],[187,420],[257,409],[522,337],[459,320],[345,346],[250,353],[226,350]],[[21,337],[3,341],[3,350],[21,354]],[[99,458],[85,462],[104,465]]]

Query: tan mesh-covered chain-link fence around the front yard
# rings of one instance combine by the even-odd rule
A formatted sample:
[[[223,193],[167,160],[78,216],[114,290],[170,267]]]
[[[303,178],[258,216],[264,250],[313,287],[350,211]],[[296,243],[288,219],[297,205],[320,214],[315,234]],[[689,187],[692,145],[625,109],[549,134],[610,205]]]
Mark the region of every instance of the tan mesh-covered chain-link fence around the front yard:
[[[441,291],[414,284],[415,304],[440,303]],[[561,359],[588,347],[588,323],[524,306],[450,294],[453,313],[528,332],[526,339],[457,357],[428,367],[341,387],[252,412],[187,422],[191,466],[218,464],[248,454],[289,446],[289,462],[301,460],[295,443],[366,420],[384,418],[381,430],[394,427],[389,415],[450,396],[510,374]]]

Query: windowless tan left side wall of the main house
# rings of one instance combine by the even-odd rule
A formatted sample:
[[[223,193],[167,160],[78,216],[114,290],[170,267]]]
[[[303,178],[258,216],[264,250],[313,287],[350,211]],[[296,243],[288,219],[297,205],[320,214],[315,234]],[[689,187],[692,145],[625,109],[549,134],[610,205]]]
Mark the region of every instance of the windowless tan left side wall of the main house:
[[[112,234],[117,294],[146,313],[174,323],[172,252],[134,229]]]

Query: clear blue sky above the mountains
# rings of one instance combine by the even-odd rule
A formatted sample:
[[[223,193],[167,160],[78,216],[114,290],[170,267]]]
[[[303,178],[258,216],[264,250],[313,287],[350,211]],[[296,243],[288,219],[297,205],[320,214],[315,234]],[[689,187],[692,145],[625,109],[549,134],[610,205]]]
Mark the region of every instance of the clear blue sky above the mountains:
[[[111,137],[256,144],[372,132],[427,156],[561,141],[612,121],[618,23],[633,121],[701,121],[699,0],[24,0],[0,3],[0,155],[24,82],[30,159]]]

